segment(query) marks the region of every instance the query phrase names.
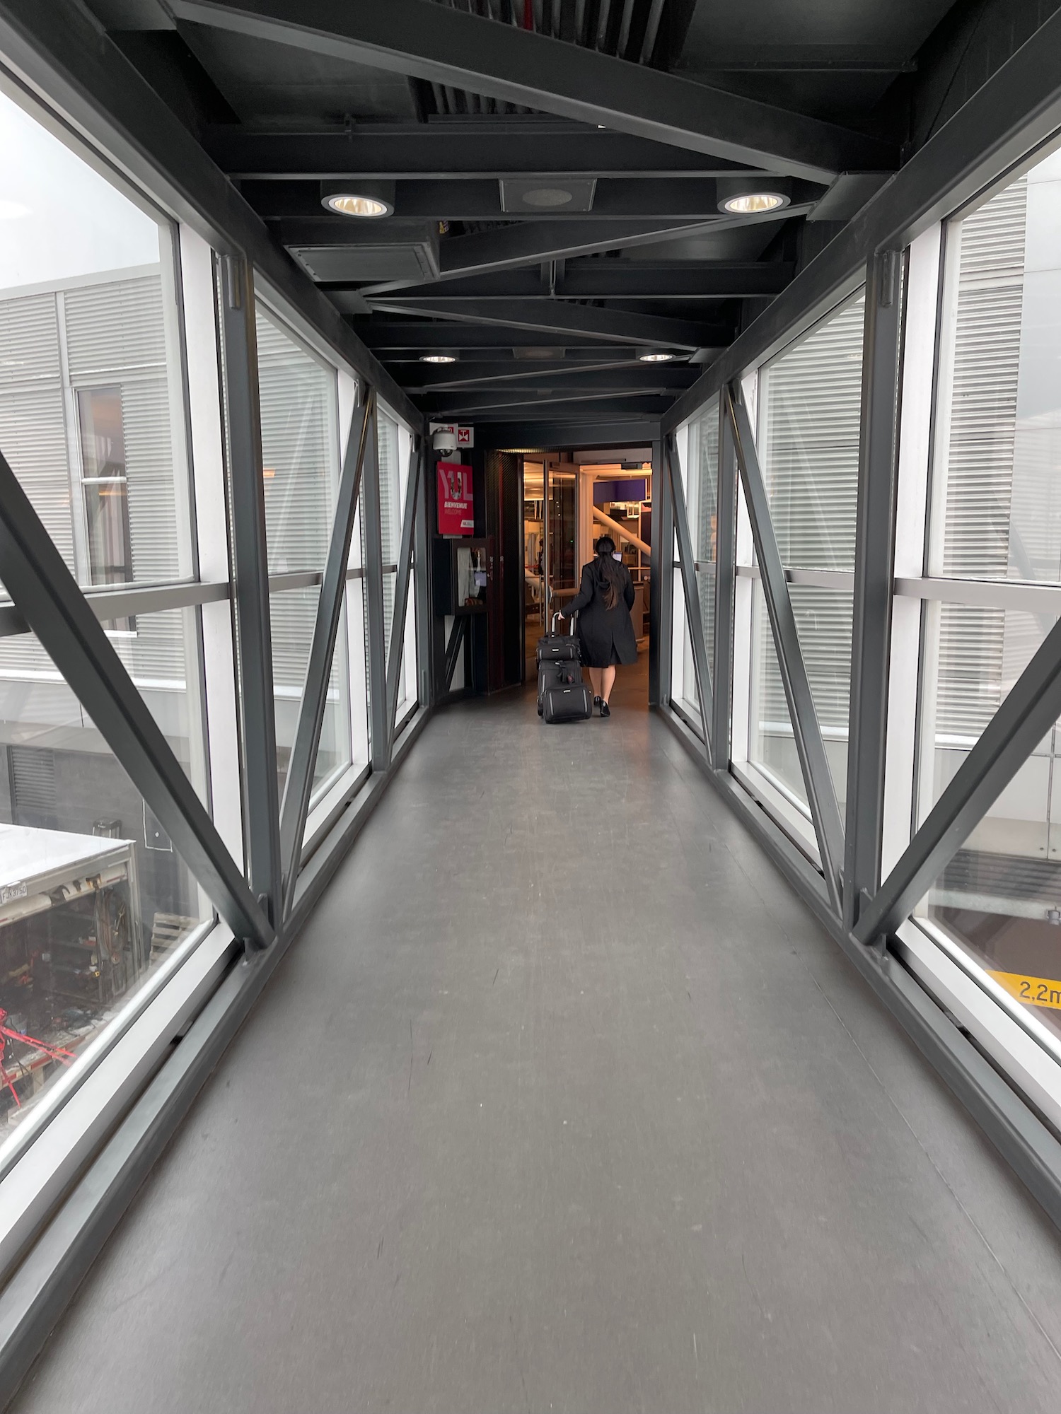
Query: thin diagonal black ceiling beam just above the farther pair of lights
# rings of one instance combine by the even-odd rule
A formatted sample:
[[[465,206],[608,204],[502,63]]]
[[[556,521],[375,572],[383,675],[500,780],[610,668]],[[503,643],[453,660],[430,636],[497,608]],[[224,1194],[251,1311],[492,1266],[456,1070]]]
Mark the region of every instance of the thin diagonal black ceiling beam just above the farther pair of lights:
[[[388,314],[430,314],[467,324],[497,324],[504,328],[538,329],[540,334],[581,334],[604,344],[628,344],[688,349],[716,348],[730,342],[729,325],[693,324],[690,320],[669,320],[656,314],[628,314],[600,310],[560,300],[439,300],[430,305],[416,300],[400,301],[385,297],[372,301],[373,308]],[[547,342],[547,339],[542,339]]]

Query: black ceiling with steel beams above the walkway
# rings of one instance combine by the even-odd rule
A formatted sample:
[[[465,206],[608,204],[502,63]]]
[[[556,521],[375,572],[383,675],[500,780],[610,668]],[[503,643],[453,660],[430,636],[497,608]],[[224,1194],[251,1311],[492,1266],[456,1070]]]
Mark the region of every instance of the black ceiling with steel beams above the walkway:
[[[1055,8],[88,3],[412,399],[477,421],[658,417]],[[321,205],[372,181],[393,214]],[[757,188],[788,206],[720,211]]]

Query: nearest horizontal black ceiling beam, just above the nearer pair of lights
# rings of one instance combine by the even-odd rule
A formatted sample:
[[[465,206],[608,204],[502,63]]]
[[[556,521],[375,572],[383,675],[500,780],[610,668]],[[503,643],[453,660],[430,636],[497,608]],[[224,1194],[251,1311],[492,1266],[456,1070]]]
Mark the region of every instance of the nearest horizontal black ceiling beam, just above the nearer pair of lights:
[[[706,180],[751,174],[747,163],[647,137],[535,117],[361,123],[349,133],[249,133],[209,127],[204,147],[238,181],[474,181],[477,177]]]

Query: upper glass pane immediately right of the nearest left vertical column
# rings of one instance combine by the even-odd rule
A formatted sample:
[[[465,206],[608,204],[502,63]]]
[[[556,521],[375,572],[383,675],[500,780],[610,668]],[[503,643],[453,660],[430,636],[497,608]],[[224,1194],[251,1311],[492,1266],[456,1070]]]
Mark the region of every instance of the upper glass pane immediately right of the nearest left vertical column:
[[[337,373],[260,303],[256,332],[269,573],[323,570],[338,488]]]

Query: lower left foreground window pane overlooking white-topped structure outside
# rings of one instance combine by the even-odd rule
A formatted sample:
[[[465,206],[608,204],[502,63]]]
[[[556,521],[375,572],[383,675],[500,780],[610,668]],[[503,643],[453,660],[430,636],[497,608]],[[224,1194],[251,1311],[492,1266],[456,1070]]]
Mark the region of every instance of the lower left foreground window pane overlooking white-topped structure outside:
[[[195,611],[115,646],[205,797]],[[0,1144],[211,916],[40,642],[0,639]]]

